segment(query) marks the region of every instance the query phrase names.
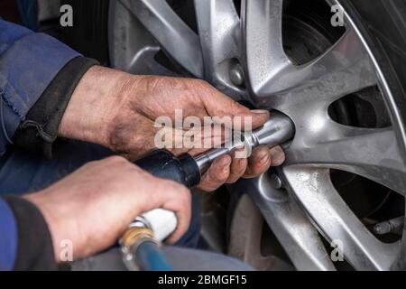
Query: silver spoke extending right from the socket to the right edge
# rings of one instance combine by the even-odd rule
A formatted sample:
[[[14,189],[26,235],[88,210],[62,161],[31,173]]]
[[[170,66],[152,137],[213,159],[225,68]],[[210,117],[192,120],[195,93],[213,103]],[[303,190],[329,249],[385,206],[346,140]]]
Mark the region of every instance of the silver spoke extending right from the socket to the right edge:
[[[318,122],[309,118],[311,122]],[[288,163],[313,164],[353,172],[406,195],[405,164],[392,128],[342,126],[333,121],[299,131]]]

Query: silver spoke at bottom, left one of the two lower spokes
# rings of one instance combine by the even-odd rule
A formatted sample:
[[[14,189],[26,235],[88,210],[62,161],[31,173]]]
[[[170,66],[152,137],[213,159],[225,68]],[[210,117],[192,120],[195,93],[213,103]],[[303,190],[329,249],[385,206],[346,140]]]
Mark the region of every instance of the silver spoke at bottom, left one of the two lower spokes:
[[[281,246],[298,270],[335,270],[318,231],[296,200],[286,191],[274,189],[270,176],[242,180],[236,192],[248,193],[258,206]]]

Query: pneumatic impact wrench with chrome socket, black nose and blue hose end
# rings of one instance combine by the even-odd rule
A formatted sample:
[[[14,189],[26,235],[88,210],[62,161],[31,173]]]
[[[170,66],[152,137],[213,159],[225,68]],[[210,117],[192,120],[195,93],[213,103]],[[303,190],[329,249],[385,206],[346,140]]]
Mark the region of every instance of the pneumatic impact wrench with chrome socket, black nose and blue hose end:
[[[259,145],[272,147],[283,144],[291,140],[294,133],[294,125],[289,117],[272,112],[269,121],[252,132],[243,133],[240,141],[225,144],[195,158],[189,154],[176,157],[168,151],[157,150],[134,163],[156,177],[192,188],[198,185],[201,175],[218,157],[231,154],[240,147],[252,150]],[[130,270],[169,270],[169,264],[157,250],[159,242],[169,237],[176,227],[176,215],[170,210],[151,210],[137,217],[120,240],[125,265]],[[145,246],[147,249],[143,249],[144,245],[148,245]],[[149,252],[149,255],[145,252]],[[152,259],[156,261],[155,266],[148,263]]]

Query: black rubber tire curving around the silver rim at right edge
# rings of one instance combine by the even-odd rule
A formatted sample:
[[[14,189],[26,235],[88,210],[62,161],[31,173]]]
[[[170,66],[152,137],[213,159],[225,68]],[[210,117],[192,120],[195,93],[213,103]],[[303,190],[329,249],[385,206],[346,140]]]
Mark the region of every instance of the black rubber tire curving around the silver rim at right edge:
[[[388,96],[392,123],[398,123],[398,132],[406,126],[406,2],[404,0],[340,0],[346,11],[355,16],[365,41],[371,47],[376,61],[392,91]],[[378,16],[379,14],[379,16]],[[398,119],[396,119],[398,118]],[[398,122],[393,121],[398,120]],[[396,130],[395,130],[396,131]],[[406,135],[398,133],[403,157],[406,152]],[[403,232],[405,232],[403,230]],[[398,262],[392,270],[406,268],[406,241],[403,238]]]

